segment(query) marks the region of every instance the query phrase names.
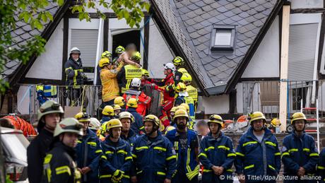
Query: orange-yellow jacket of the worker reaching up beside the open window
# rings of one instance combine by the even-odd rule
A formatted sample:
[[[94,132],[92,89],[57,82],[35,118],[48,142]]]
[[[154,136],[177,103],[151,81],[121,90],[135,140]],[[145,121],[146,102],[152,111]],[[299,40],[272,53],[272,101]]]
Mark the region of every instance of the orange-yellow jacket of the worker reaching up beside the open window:
[[[119,64],[116,70],[100,70],[100,79],[102,81],[102,101],[108,102],[110,100],[114,100],[114,98],[117,98],[119,96],[117,72],[122,69],[122,66],[123,64]]]

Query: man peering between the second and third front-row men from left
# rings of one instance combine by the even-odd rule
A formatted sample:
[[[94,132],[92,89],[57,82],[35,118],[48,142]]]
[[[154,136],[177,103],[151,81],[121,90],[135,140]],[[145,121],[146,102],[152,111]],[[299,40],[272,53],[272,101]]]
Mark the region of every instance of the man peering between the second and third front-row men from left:
[[[138,134],[131,129],[131,124],[134,123],[132,114],[130,112],[121,112],[119,114],[119,120],[122,123],[121,138],[127,141],[131,147],[134,146]]]

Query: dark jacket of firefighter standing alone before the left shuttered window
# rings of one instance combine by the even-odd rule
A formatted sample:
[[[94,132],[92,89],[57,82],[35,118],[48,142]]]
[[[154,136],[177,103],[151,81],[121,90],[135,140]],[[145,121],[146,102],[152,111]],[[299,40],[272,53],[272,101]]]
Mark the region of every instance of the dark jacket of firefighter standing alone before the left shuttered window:
[[[69,58],[68,61],[64,64],[64,71],[66,73],[66,85],[73,85],[73,88],[80,88],[83,85],[83,64],[81,59],[74,61],[72,58]]]

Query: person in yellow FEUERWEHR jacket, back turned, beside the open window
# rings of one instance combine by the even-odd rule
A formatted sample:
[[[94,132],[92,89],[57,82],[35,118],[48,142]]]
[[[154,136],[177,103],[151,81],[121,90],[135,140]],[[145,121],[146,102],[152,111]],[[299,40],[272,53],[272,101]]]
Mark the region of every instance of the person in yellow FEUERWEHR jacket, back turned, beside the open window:
[[[128,64],[122,67],[121,71],[117,73],[117,79],[121,83],[121,85],[119,85],[119,88],[121,88],[121,94],[124,94],[129,90],[133,78],[140,79],[142,76],[141,66],[139,65],[141,60],[140,52],[134,52],[131,56],[131,60],[134,61],[134,64]]]

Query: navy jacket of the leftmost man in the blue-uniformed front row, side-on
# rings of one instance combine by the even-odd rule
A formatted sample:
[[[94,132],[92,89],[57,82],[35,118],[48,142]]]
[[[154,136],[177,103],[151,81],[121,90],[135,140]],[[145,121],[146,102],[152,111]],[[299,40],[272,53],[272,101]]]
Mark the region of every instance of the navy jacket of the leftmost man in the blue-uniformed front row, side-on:
[[[100,156],[102,155],[102,148],[100,147],[100,140],[97,135],[87,129],[87,135],[78,140],[76,146],[76,163],[79,168],[90,167],[90,172],[82,175],[83,182],[98,182],[98,168],[100,163]]]

